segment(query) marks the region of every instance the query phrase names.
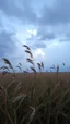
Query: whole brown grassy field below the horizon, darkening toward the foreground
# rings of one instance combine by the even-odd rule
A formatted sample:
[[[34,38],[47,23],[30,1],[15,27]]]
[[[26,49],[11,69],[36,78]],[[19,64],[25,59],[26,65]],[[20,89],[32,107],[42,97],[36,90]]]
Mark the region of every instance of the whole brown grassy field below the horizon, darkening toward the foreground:
[[[70,73],[0,74],[0,124],[70,124]]]

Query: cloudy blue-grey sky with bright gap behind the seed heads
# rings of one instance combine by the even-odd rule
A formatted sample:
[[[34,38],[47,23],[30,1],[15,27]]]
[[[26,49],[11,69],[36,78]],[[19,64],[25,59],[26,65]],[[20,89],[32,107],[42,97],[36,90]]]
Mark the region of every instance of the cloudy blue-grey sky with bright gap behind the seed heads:
[[[44,62],[45,71],[52,64],[68,71],[70,0],[0,0],[0,66],[5,57],[14,67],[21,62],[27,69],[23,45],[31,47],[35,63]]]

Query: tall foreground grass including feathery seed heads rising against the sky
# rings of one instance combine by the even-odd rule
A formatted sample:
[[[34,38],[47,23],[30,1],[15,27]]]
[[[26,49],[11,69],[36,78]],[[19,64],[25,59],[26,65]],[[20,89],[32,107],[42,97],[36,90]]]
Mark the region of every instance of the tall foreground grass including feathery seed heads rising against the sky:
[[[23,47],[28,54],[26,61],[31,64],[30,69],[38,75],[31,48],[26,45]],[[5,58],[2,60],[5,64],[0,67],[2,74],[11,75],[11,70],[14,78],[5,87],[2,84],[0,85],[0,124],[70,124],[70,86],[65,87],[63,80],[59,79],[59,65],[51,66],[56,70],[56,83],[52,83],[52,78],[51,82],[49,79],[47,83],[47,79],[42,80],[35,76],[34,78],[31,77],[34,85],[24,87],[24,80],[19,79],[11,62]],[[40,62],[37,65],[42,72],[44,63]],[[21,63],[18,67],[22,71]],[[27,70],[24,73],[27,74]],[[26,82],[27,84],[30,82],[27,76]],[[35,85],[42,84],[42,82],[46,82],[45,90],[37,95]],[[24,88],[28,88],[28,90],[25,92]]]

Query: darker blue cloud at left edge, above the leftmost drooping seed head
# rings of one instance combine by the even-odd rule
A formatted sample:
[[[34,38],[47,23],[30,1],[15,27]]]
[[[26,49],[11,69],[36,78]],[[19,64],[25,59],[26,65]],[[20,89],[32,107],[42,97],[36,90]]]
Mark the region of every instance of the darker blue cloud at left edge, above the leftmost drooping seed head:
[[[12,40],[13,34],[8,34],[7,32],[0,33],[0,57],[5,53],[13,53],[15,49],[15,42]]]

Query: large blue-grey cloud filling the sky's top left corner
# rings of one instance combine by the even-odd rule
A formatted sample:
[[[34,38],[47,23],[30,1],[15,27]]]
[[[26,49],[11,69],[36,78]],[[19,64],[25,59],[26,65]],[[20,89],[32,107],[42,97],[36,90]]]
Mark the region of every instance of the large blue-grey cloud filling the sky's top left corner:
[[[36,23],[37,16],[30,3],[31,0],[1,0],[0,9],[9,16],[14,16],[25,23],[33,24]]]

